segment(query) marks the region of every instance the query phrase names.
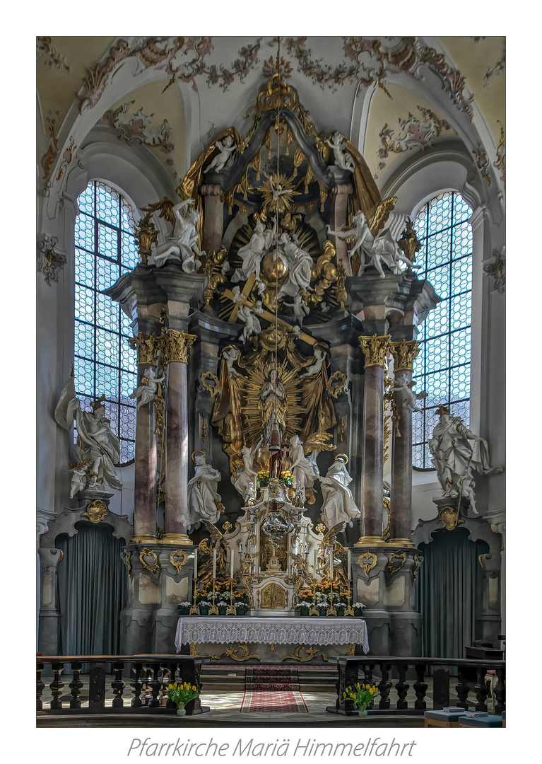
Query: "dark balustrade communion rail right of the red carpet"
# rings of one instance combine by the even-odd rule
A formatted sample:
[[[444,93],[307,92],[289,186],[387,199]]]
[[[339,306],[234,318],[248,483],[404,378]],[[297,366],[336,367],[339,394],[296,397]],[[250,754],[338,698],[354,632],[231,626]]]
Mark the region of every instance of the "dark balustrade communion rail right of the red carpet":
[[[450,669],[457,669],[457,697],[450,697]],[[344,698],[344,691],[357,681],[375,684],[380,694],[376,701],[368,707],[369,714],[378,716],[382,711],[386,714],[404,714],[421,716],[427,709],[425,678],[429,673],[433,680],[433,698],[429,706],[434,710],[454,705],[465,711],[488,711],[487,698],[491,692],[486,676],[489,675],[489,685],[495,698],[493,713],[502,714],[505,711],[505,661],[503,660],[460,660],[457,658],[395,658],[392,656],[338,656],[337,670],[337,701],[334,706],[327,706],[326,711],[333,714],[358,713],[353,707],[353,701]],[[415,701],[407,700],[410,683],[414,677],[412,689],[415,691]],[[395,690],[397,699],[390,691]],[[471,697],[469,698],[469,694]],[[476,696],[476,701],[473,699]],[[428,698],[427,698],[428,699]]]

